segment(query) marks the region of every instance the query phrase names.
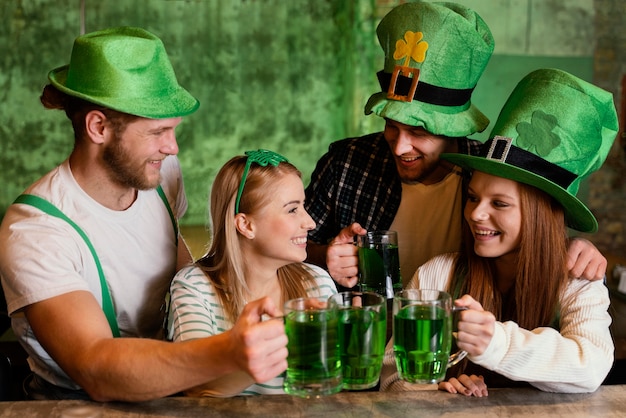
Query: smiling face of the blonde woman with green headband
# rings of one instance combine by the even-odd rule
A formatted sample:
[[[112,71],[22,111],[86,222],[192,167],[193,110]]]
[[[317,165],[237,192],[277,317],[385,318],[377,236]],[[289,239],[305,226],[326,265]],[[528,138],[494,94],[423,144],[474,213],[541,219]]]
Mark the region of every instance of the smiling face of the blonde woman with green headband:
[[[276,268],[306,258],[308,231],[315,222],[304,209],[304,187],[296,174],[285,174],[272,183],[267,203],[248,214],[254,231],[250,241],[255,257],[264,258]]]

